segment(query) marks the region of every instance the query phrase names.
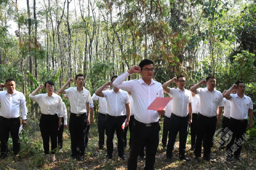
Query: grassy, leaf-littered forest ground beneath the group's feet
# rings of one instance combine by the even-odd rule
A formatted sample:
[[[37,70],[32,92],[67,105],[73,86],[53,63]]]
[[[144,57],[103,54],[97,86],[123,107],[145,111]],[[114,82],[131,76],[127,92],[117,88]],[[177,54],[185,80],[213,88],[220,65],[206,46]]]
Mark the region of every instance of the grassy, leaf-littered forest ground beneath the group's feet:
[[[162,127],[163,120],[160,124]],[[30,127],[33,127],[34,129],[31,129]],[[90,127],[90,141],[84,161],[70,159],[71,150],[68,129],[65,129],[63,136],[63,152],[56,153],[56,159],[58,161],[45,162],[42,138],[40,136],[38,125],[36,126],[36,123],[35,125],[28,125],[26,130],[20,135],[22,145],[20,157],[22,158],[22,162],[14,161],[12,152],[10,152],[6,159],[0,160],[0,169],[127,169],[127,160],[118,159],[116,137],[114,141],[113,159],[105,159],[106,146],[103,151],[97,149],[97,124],[93,124]],[[225,160],[225,151],[218,150],[218,148],[214,147],[211,156],[214,157],[217,162],[211,163],[201,160],[201,162],[198,163],[193,161],[194,155],[193,152],[190,151],[189,140],[190,138],[188,136],[186,155],[192,159],[191,162],[179,160],[179,153],[176,150],[176,148],[179,149],[178,141],[175,143],[172,162],[165,162],[166,148],[163,148],[163,146],[159,144],[155,163],[156,169],[256,169],[256,144],[253,142],[244,145],[241,153],[243,161],[227,162]],[[12,150],[11,139],[9,140],[9,146],[9,149]],[[129,158],[129,146],[125,148],[125,156],[127,159]],[[145,160],[138,162],[138,169],[143,169],[144,166]]]

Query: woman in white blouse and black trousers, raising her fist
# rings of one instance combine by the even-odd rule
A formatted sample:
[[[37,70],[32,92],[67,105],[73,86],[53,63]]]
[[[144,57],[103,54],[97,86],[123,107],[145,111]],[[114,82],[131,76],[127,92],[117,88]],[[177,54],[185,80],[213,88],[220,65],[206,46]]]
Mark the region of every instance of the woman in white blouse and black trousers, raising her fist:
[[[40,89],[45,87],[46,94],[37,94]],[[56,161],[55,152],[57,148],[57,134],[61,126],[61,118],[63,117],[62,99],[54,94],[54,83],[52,81],[45,82],[29,94],[29,98],[39,104],[41,109],[40,131],[43,138],[45,160],[49,159],[49,139],[51,138],[51,161]]]

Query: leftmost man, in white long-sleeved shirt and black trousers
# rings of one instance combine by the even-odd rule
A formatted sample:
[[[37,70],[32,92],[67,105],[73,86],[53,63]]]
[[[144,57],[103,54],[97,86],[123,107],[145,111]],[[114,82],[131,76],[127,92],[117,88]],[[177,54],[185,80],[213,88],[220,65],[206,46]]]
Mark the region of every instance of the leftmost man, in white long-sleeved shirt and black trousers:
[[[20,108],[22,110],[22,125],[26,125],[27,107],[24,94],[15,90],[15,80],[9,78],[5,84],[1,83],[1,88],[6,90],[0,92],[0,141],[1,141],[1,155],[4,159],[8,153],[8,139],[11,133],[13,142],[13,153],[17,160],[20,160],[18,153],[20,152]]]

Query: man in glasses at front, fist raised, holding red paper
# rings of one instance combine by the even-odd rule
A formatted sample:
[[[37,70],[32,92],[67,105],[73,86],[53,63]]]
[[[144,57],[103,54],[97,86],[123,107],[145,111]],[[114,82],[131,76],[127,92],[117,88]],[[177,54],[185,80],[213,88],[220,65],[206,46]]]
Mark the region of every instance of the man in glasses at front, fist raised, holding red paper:
[[[134,100],[134,129],[132,134],[132,148],[128,160],[128,169],[137,168],[138,155],[146,145],[145,169],[154,169],[157,146],[159,144],[159,114],[164,110],[147,110],[156,97],[164,97],[161,83],[154,81],[154,66],[152,60],[141,60],[139,66],[132,66],[129,71],[121,74],[113,82],[120,89],[131,91]],[[124,81],[130,74],[140,73],[140,80]]]

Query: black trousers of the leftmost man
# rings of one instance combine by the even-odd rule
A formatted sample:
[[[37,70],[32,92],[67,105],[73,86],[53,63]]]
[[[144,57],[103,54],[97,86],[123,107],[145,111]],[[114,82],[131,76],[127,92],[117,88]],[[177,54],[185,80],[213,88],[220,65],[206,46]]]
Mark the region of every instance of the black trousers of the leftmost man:
[[[19,138],[20,118],[4,118],[0,116],[0,141],[1,155],[6,156],[8,153],[9,134],[12,136],[13,153],[17,155],[20,152]]]

